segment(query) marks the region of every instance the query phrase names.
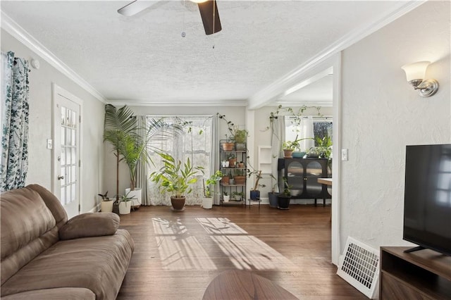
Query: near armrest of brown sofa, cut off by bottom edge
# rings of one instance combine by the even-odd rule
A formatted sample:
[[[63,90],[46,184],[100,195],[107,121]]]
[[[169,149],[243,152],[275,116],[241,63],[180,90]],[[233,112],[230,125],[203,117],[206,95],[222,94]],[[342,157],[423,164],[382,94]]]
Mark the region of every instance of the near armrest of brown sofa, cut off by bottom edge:
[[[95,300],[96,295],[82,287],[60,287],[58,289],[38,289],[1,297],[1,300]]]

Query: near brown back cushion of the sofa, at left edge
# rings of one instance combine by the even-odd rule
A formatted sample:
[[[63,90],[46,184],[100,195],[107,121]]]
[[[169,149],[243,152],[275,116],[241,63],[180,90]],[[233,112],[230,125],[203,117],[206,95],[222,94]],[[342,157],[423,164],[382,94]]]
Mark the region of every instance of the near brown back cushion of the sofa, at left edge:
[[[39,194],[23,188],[1,194],[1,284],[58,242],[58,228]]]

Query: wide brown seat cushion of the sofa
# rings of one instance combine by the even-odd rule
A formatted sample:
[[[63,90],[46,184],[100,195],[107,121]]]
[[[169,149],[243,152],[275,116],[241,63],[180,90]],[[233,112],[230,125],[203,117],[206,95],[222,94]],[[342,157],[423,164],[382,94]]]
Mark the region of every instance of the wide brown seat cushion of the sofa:
[[[59,241],[6,281],[1,296],[35,289],[85,287],[96,299],[115,299],[133,249],[126,230],[104,237]]]

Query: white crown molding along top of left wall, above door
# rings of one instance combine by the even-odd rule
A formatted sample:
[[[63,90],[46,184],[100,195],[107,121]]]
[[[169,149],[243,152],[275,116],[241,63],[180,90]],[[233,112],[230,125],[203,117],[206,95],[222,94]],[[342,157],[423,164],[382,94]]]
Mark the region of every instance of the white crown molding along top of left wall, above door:
[[[55,54],[51,53],[43,44],[41,44],[35,37],[32,37],[23,27],[20,27],[9,15],[6,15],[4,11],[1,11],[1,28],[8,32],[10,35],[18,39],[19,42],[27,46],[31,51],[39,55],[44,61],[47,61],[51,66],[56,68],[59,72],[69,77],[70,80],[77,85],[85,89],[89,94],[92,94],[99,101],[106,103],[107,99],[97,89],[94,89],[92,85],[84,80],[80,75],[75,73],[74,70],[68,67],[66,63],[63,63]]]

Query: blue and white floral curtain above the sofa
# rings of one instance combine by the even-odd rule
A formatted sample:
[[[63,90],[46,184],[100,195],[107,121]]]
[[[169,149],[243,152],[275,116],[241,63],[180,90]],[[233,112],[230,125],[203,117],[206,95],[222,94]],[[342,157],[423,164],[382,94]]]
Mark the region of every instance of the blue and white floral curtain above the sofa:
[[[9,51],[1,53],[1,186],[25,186],[28,169],[28,62]]]

